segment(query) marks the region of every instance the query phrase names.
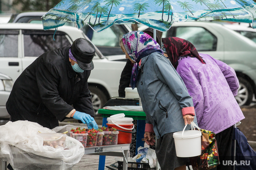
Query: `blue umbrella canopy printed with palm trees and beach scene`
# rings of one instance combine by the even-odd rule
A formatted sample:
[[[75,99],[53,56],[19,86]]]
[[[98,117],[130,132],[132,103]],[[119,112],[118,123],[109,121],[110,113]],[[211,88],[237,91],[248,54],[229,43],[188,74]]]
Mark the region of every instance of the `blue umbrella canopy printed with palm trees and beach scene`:
[[[62,0],[43,16],[49,30],[75,22],[101,32],[114,23],[141,23],[167,31],[172,23],[222,19],[252,23],[256,29],[256,3],[252,0]]]

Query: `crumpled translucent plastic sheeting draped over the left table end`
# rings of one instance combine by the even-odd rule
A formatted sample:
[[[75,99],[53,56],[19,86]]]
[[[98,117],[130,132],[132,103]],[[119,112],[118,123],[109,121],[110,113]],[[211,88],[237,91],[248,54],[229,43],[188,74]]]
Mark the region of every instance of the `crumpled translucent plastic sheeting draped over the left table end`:
[[[38,131],[56,133],[27,120],[9,121],[0,126],[0,156],[7,158],[14,170],[66,170],[83,157],[85,149],[78,140],[67,136],[65,148],[43,146],[43,138],[36,134]]]

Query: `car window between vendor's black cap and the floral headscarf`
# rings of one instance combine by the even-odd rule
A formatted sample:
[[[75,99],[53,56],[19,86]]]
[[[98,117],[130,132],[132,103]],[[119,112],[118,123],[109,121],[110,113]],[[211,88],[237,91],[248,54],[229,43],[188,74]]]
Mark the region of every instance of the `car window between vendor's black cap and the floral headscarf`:
[[[94,32],[88,24],[82,30],[96,46],[119,47],[119,37],[124,34],[117,25],[113,25],[100,33]]]

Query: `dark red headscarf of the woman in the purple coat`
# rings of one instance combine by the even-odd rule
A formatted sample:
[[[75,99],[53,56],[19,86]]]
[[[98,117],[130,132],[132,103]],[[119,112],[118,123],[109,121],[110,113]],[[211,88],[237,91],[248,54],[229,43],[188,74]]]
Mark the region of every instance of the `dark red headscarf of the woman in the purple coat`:
[[[196,57],[203,64],[205,61],[199,56],[195,46],[187,40],[178,37],[162,38],[166,53],[174,68],[178,66],[178,60],[182,57]]]

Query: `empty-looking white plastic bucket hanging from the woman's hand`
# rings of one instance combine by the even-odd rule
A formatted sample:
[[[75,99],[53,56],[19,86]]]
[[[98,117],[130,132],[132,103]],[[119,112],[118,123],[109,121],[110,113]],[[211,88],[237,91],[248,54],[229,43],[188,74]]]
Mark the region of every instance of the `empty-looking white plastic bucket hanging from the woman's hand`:
[[[197,127],[194,122],[193,126]],[[194,157],[201,155],[201,131],[185,130],[186,127],[187,124],[183,131],[173,133],[177,157]],[[199,127],[197,128],[200,129]]]

